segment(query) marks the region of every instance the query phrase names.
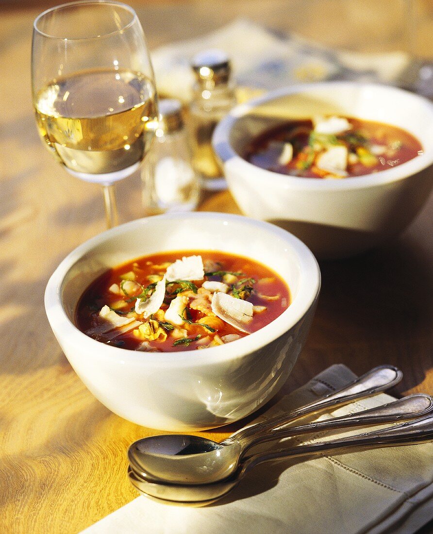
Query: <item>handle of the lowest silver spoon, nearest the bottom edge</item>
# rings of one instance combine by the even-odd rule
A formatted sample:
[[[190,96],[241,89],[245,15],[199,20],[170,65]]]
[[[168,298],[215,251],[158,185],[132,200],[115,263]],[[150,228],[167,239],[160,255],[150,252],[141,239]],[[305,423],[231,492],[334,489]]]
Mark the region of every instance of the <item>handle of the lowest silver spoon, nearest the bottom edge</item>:
[[[344,453],[352,449],[372,449],[396,445],[415,445],[433,441],[433,415],[409,421],[392,428],[375,430],[355,436],[333,439],[331,441],[298,445],[290,449],[280,449],[248,457],[243,463],[240,476],[248,470],[269,460],[277,458],[296,458],[325,453]]]

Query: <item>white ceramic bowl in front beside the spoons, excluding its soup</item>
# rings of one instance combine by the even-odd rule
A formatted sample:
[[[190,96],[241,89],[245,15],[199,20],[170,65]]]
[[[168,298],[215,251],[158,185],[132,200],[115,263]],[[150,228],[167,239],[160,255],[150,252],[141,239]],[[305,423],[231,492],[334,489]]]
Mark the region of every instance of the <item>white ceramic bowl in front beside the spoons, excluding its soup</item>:
[[[179,249],[223,250],[269,265],[287,281],[292,304],[261,330],[200,351],[125,350],[75,327],[77,302],[99,274]],[[202,430],[245,417],[284,384],[309,331],[319,287],[310,250],[277,226],[236,215],[172,214],[117,226],[76,248],[51,276],[45,309],[70,364],[110,410],[151,428]]]

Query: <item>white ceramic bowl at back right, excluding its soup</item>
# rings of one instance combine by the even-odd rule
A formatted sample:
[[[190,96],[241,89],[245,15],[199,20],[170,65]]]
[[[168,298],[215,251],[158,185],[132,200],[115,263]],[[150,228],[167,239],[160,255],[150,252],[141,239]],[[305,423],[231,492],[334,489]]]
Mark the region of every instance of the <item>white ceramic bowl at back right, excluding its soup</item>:
[[[424,153],[389,170],[341,180],[285,176],[241,158],[259,133],[319,114],[396,125],[417,137]],[[319,258],[355,255],[398,234],[433,186],[433,104],[393,87],[325,82],[267,93],[235,107],[212,143],[243,213],[293,232]]]

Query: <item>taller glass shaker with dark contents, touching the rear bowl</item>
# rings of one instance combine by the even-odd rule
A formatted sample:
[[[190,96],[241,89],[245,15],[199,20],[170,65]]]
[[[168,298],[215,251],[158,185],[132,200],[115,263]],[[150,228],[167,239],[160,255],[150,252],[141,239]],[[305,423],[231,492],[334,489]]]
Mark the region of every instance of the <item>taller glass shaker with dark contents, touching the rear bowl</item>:
[[[212,149],[212,133],[236,104],[231,62],[221,50],[197,54],[191,63],[195,74],[190,120],[194,143],[194,166],[208,190],[226,189],[222,168]]]

